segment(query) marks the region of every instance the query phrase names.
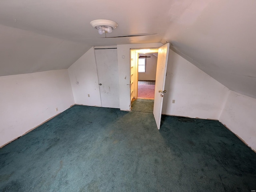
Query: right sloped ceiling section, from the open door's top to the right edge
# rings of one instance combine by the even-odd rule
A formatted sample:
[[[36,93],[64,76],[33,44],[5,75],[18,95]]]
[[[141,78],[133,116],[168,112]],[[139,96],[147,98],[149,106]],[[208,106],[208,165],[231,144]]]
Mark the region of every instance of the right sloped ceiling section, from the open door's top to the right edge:
[[[191,2],[178,18],[171,17],[164,41],[224,86],[256,98],[256,1]]]

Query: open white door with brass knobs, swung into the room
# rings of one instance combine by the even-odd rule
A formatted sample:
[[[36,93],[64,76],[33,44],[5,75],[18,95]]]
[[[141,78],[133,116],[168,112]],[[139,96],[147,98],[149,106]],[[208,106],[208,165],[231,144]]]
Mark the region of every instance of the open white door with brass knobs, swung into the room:
[[[155,85],[155,100],[154,100],[154,118],[156,120],[156,126],[160,129],[161,116],[162,116],[162,106],[164,93],[164,84],[166,78],[166,69],[168,62],[168,54],[169,54],[170,43],[159,47],[158,49],[158,59],[156,66],[156,85]]]

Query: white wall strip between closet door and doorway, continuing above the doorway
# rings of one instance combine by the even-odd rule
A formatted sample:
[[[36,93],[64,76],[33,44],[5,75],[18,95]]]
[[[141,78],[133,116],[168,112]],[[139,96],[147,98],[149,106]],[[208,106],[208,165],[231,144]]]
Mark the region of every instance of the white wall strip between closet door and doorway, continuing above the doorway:
[[[162,43],[117,45],[120,110],[130,111],[130,49],[158,48]]]

